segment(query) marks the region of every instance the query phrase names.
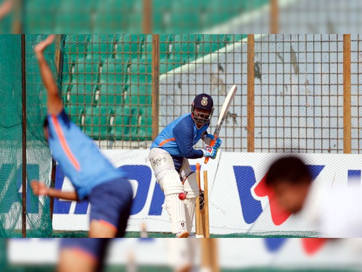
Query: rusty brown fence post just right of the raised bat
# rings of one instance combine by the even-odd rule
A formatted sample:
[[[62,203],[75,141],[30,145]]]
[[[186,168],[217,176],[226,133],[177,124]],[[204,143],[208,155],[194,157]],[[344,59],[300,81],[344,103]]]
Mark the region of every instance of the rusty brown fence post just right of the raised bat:
[[[254,152],[254,34],[248,34],[248,152]]]

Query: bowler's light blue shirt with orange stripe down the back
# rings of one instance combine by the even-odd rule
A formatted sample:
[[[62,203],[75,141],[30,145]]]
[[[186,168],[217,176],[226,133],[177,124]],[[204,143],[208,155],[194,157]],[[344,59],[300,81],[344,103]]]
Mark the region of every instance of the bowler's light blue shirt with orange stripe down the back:
[[[47,119],[52,156],[72,182],[79,199],[97,185],[126,177],[105,158],[92,139],[70,121],[64,110],[58,115],[47,115]]]

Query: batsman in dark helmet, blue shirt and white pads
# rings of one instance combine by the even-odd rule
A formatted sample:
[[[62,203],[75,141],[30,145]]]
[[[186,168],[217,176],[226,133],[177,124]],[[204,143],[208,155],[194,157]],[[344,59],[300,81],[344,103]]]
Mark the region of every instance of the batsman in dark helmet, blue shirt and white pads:
[[[195,237],[191,234],[199,186],[196,173],[188,159],[210,157],[215,159],[221,140],[207,133],[214,103],[210,95],[199,94],[191,105],[191,113],[184,114],[168,124],[156,137],[146,161],[151,162],[156,180],[165,194],[165,206],[171,219],[171,232],[176,238]],[[202,139],[205,149],[193,146]],[[179,195],[185,196],[180,199]]]

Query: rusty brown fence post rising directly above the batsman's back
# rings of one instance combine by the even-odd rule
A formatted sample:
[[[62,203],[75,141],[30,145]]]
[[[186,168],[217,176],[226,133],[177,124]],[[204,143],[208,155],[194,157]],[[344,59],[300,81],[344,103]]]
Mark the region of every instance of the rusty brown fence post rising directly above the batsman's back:
[[[160,35],[152,35],[152,140],[159,133]]]

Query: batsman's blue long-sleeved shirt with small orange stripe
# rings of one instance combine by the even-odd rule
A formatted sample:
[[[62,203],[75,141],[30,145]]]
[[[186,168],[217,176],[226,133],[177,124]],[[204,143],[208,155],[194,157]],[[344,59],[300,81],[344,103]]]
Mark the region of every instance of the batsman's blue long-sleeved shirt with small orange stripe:
[[[208,127],[209,124],[206,124],[197,129],[190,113],[181,115],[161,131],[151,148],[162,148],[176,157],[201,158],[203,151],[194,149],[193,146]]]

